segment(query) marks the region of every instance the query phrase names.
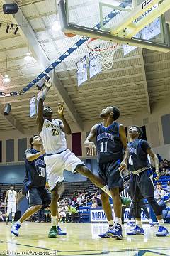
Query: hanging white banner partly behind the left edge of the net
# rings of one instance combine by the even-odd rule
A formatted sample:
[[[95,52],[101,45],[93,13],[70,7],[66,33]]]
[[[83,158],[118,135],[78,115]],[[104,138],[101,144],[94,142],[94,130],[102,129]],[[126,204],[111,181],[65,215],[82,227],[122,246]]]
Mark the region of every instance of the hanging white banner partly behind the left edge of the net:
[[[90,78],[93,78],[94,75],[97,75],[102,71],[102,63],[101,60],[98,59],[97,55],[93,53],[89,53],[89,72]]]

